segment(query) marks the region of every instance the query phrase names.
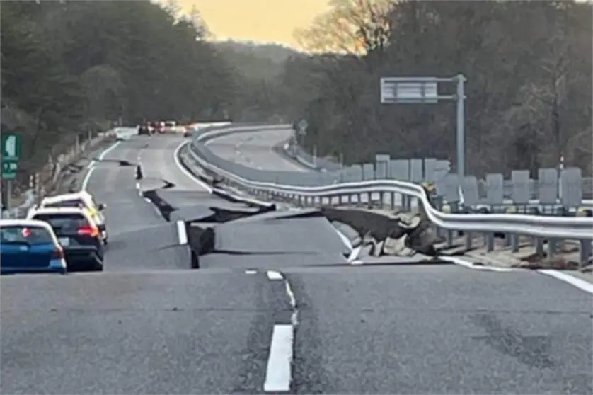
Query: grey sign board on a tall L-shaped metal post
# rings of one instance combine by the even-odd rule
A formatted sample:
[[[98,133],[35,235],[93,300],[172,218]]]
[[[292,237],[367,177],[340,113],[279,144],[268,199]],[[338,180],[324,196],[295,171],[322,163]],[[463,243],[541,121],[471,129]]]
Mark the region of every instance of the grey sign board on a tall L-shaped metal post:
[[[457,102],[457,173],[466,174],[465,82],[463,74],[454,77],[381,78],[381,104],[436,104],[441,100]],[[454,95],[439,95],[439,82],[456,82]]]

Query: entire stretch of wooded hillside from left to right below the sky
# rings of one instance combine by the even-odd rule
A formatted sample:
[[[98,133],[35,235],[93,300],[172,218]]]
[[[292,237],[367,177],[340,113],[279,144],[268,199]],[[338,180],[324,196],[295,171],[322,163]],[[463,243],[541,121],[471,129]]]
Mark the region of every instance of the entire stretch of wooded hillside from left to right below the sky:
[[[316,53],[303,55],[207,42],[199,13],[179,18],[174,2],[2,1],[2,131],[23,135],[30,168],[115,120],[224,111],[306,118],[309,148],[350,163],[454,159],[454,104],[380,105],[379,78],[463,73],[468,173],[555,166],[562,154],[590,173],[591,31],[590,4],[568,0],[335,0],[297,32]]]

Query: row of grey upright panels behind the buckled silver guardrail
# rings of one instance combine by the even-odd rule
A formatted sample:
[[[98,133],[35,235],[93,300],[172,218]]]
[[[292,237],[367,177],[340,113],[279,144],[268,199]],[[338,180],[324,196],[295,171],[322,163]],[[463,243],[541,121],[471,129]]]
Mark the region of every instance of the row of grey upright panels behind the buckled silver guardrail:
[[[284,145],[283,151],[315,171],[337,171],[342,168],[338,164],[313,158],[302,147],[294,144],[292,139]],[[504,179],[500,173],[491,173],[482,180],[466,176],[460,182],[459,176],[447,177],[450,166],[449,161],[434,158],[391,159],[388,155],[378,155],[374,163],[347,167],[350,169],[347,173],[350,176],[348,181],[396,178],[415,183],[434,183],[437,186],[437,194],[444,197],[445,201],[458,206],[488,205],[502,210],[512,205],[542,206],[543,211],[560,207],[576,209],[593,206],[593,178],[581,177],[577,168],[566,168],[566,171],[540,168],[541,179],[529,178],[529,171],[517,170],[512,172],[511,179]],[[566,189],[561,191],[560,185],[563,183]]]

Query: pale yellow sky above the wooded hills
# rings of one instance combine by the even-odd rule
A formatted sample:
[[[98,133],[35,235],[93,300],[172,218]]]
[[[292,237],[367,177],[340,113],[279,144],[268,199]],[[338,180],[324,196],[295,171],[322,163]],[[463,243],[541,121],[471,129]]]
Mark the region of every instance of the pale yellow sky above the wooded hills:
[[[217,40],[234,38],[283,42],[298,47],[293,33],[328,9],[328,0],[178,0],[189,11],[195,4]]]

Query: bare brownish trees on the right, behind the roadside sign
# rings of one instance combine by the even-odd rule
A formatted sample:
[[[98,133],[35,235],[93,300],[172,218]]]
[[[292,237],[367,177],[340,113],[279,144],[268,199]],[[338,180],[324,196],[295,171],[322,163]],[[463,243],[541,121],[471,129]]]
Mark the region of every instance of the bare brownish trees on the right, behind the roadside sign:
[[[591,174],[591,31],[591,4],[569,0],[334,0],[297,32],[316,55],[286,62],[270,105],[306,118],[304,144],[323,155],[348,163],[379,153],[434,156],[455,165],[455,103],[381,105],[379,79],[461,73],[468,173],[536,176],[563,156]]]

